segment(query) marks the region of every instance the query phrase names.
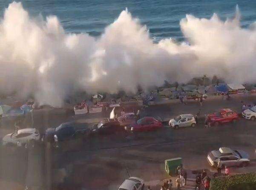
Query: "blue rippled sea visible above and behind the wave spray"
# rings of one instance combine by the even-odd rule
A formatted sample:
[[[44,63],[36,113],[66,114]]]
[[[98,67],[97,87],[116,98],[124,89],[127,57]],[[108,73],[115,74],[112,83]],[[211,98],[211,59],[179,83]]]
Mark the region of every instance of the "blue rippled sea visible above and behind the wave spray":
[[[256,21],[255,0],[22,0],[29,14],[46,17],[56,15],[66,32],[88,33],[98,37],[104,28],[113,23],[125,8],[133,17],[147,25],[155,41],[163,38],[184,40],[179,21],[186,14],[210,18],[215,12],[225,20],[234,15],[236,5],[242,14],[241,26]],[[0,2],[0,16],[11,0]]]

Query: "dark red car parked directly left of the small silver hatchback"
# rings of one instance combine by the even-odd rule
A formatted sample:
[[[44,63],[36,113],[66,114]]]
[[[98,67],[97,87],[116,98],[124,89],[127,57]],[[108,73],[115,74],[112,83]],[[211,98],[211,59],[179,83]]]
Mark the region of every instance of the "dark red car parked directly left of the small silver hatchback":
[[[134,131],[149,131],[162,128],[162,122],[158,121],[154,117],[143,117],[134,124],[130,125],[128,130]]]

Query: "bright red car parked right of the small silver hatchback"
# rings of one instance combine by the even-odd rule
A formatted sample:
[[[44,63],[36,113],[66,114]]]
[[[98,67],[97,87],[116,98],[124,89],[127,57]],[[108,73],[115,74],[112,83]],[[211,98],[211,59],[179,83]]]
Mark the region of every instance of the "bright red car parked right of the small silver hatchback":
[[[221,123],[227,122],[236,122],[238,119],[239,116],[236,111],[233,111],[229,108],[221,109],[219,112],[208,115],[208,122],[210,122],[211,126],[217,126]]]

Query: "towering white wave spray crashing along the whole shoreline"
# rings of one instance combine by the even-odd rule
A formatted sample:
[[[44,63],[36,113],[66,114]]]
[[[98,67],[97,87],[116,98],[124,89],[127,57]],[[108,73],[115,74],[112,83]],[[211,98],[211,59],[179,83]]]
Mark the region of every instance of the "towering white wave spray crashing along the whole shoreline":
[[[190,43],[164,39],[154,44],[146,26],[122,11],[99,39],[66,34],[57,17],[32,18],[11,3],[0,22],[0,91],[34,94],[41,104],[60,106],[75,90],[135,92],[165,79],[187,82],[203,74],[227,82],[254,82],[256,27],[192,15],[180,21]]]

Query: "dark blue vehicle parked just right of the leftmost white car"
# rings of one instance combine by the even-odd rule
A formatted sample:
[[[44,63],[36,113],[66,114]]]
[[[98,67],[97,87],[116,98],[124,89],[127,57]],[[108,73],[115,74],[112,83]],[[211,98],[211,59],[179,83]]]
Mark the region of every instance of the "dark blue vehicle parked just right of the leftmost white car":
[[[67,122],[62,123],[58,127],[46,129],[42,136],[42,142],[59,142],[71,140],[79,137],[86,137],[90,133],[86,123]]]

